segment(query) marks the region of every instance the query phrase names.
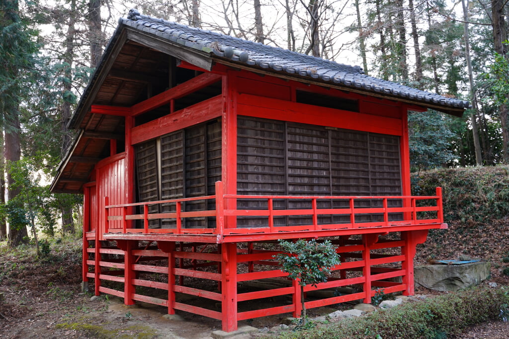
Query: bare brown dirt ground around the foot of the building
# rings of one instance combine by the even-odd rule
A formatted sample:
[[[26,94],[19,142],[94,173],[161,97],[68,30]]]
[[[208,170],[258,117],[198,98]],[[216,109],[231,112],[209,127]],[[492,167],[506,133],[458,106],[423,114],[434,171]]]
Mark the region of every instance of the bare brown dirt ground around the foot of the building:
[[[92,301],[92,294],[80,293],[80,245],[79,240],[53,244],[50,256],[36,260],[33,248],[13,251],[0,243],[0,338],[206,339],[220,329],[217,320],[185,312],[179,313],[183,321],[167,320],[165,307],[147,303],[125,306],[116,297]],[[508,285],[499,269],[494,265],[490,281]],[[440,294],[425,289],[416,292]],[[317,316],[334,310],[310,311]],[[266,327],[266,332],[286,316],[290,314],[258,318],[249,325]],[[509,338],[509,322],[480,324],[457,338]]]

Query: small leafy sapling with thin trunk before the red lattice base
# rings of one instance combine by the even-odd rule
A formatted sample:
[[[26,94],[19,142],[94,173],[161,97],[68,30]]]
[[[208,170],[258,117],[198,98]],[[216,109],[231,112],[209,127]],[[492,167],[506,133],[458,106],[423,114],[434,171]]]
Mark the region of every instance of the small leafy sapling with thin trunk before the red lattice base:
[[[281,270],[289,278],[298,279],[302,302],[302,326],[306,323],[304,286],[325,283],[331,268],[340,264],[340,256],[329,240],[318,242],[315,239],[295,242],[279,240],[282,253],[273,256],[281,263]]]

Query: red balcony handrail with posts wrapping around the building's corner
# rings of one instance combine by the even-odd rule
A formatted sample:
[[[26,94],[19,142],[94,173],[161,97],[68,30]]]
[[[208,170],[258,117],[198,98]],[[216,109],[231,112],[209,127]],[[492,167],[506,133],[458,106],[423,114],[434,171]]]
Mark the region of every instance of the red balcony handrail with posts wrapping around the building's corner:
[[[268,227],[262,228],[253,228],[257,232],[260,232],[263,229],[263,232],[277,232],[278,230],[287,229],[292,231],[295,226],[275,226],[274,218],[281,216],[290,216],[290,215],[301,215],[302,217],[312,216],[312,224],[308,225],[312,227],[313,230],[322,230],[322,229],[330,229],[330,226],[334,226],[334,223],[331,224],[319,224],[318,216],[319,215],[346,215],[350,214],[350,223],[341,223],[338,225],[347,226],[348,228],[356,228],[358,227],[366,227],[366,224],[377,224],[376,227],[379,226],[393,226],[402,223],[410,223],[409,225],[418,225],[422,223],[430,223],[430,224],[442,224],[443,223],[443,206],[442,206],[442,189],[440,187],[436,188],[435,196],[289,196],[289,195],[240,195],[240,194],[223,194],[223,184],[221,181],[217,181],[215,183],[216,195],[208,195],[203,197],[192,197],[192,198],[178,198],[178,199],[168,199],[168,200],[158,200],[158,201],[147,201],[147,202],[137,202],[137,203],[129,203],[129,204],[116,204],[116,205],[108,205],[108,197],[104,198],[105,205],[105,232],[108,232],[109,221],[121,221],[123,232],[126,232],[126,224],[128,221],[133,220],[143,220],[144,228],[143,231],[148,233],[149,231],[149,220],[152,219],[175,219],[176,221],[176,229],[168,229],[168,232],[171,233],[188,233],[187,229],[182,229],[182,218],[195,218],[195,217],[206,217],[212,216],[216,217],[216,227],[209,228],[205,227],[203,229],[194,229],[194,230],[204,230],[208,233],[212,232],[214,234],[223,234],[223,233],[231,233],[235,230],[244,230],[248,231],[246,228],[226,228],[224,224],[225,218],[236,218],[236,217],[268,217]],[[215,199],[215,209],[204,208],[199,211],[182,211],[182,203],[186,201],[196,201],[196,200],[211,200]],[[265,208],[238,208],[235,204],[234,208],[226,208],[225,201],[227,199],[260,199],[267,200],[267,207]],[[274,200],[310,200],[311,206],[309,207],[299,207],[299,208],[274,208],[273,201]],[[389,207],[389,200],[402,200],[402,206],[394,206]],[[342,207],[325,207],[318,208],[317,201],[320,200],[346,200],[349,202],[348,206]],[[355,200],[379,200],[382,202],[382,206],[377,207],[367,207],[367,206],[358,206],[355,207]],[[435,200],[436,205],[434,206],[417,206],[418,200]],[[173,212],[163,212],[163,213],[155,213],[157,215],[151,215],[148,212],[149,205],[156,204],[175,204],[176,210]],[[135,206],[143,206],[143,214],[131,214],[129,213],[129,218],[126,218],[126,212],[129,207]],[[111,208],[121,208],[121,215],[109,215],[108,212]],[[132,210],[132,209],[131,209]],[[436,218],[417,218],[418,212],[427,212],[433,211],[437,212]],[[211,214],[212,213],[212,214]],[[404,220],[403,221],[389,221],[389,213],[403,213]],[[355,222],[356,215],[362,214],[383,214],[383,221],[376,222]],[[133,218],[136,217],[136,218]],[[308,217],[307,217],[308,218]],[[381,225],[378,225],[380,224]],[[327,227],[329,225],[329,227]],[[307,227],[307,226],[306,226]],[[374,226],[375,227],[375,226]],[[300,228],[300,226],[298,227]],[[119,228],[115,228],[118,230]],[[139,229],[138,229],[139,230]],[[254,231],[253,231],[254,232]],[[248,232],[249,233],[249,232]]]

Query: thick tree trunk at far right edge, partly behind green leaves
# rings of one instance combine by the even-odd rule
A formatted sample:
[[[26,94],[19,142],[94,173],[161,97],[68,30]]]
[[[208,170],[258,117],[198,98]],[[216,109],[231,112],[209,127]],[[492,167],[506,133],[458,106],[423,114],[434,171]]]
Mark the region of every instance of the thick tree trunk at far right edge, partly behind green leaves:
[[[503,42],[507,40],[507,28],[505,24],[504,0],[491,1],[491,24],[493,26],[493,47],[495,52],[506,56],[506,50]],[[502,128],[503,140],[503,162],[509,163],[509,131],[507,131],[507,105],[501,104],[498,108],[500,126]]]

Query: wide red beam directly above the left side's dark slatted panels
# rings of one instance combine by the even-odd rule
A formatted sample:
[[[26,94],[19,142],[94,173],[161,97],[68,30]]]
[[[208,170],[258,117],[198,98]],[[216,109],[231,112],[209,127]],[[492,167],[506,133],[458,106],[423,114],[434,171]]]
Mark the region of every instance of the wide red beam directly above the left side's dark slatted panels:
[[[172,114],[147,122],[146,124],[133,127],[131,130],[131,143],[137,144],[217,118],[221,116],[221,111],[222,105],[220,96],[204,100]]]

